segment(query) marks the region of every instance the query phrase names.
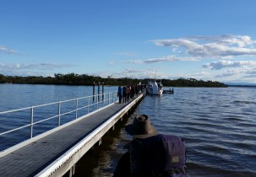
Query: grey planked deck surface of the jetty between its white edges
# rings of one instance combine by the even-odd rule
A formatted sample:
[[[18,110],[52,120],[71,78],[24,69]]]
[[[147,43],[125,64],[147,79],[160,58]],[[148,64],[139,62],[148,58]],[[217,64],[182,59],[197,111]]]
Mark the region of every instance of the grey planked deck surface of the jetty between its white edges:
[[[131,102],[131,101],[130,101]],[[34,176],[126,105],[108,106],[0,158],[0,176]]]

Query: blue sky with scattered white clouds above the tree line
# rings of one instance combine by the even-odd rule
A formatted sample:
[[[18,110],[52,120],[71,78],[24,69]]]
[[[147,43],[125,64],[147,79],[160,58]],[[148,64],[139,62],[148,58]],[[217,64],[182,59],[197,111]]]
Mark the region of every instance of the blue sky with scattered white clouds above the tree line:
[[[0,0],[0,74],[256,84],[255,0]]]

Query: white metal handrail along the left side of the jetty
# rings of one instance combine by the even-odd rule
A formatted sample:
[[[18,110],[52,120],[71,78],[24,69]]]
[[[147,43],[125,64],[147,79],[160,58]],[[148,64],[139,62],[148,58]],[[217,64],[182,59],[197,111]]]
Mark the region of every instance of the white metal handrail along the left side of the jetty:
[[[114,95],[116,95],[116,96],[114,96]],[[94,100],[93,98],[96,98],[96,99]],[[100,98],[102,98],[102,99],[100,99]],[[85,100],[85,103],[87,102],[87,104],[82,105],[81,107],[79,107],[79,101],[81,101],[81,100]],[[68,102],[72,102],[72,101],[75,101],[75,105],[74,105],[75,109],[62,112],[65,109],[64,108],[62,109],[61,105],[63,105],[63,103],[68,103]],[[32,138],[33,137],[34,125],[36,125],[36,124],[39,124],[39,123],[44,122],[44,121],[49,121],[49,120],[52,120],[52,119],[58,117],[58,126],[61,126],[61,119],[62,119],[63,115],[69,115],[69,114],[75,112],[74,119],[78,119],[79,117],[81,117],[81,116],[78,117],[79,110],[86,110],[87,109],[86,114],[88,114],[88,113],[90,113],[90,108],[93,109],[92,111],[98,110],[99,108],[105,107],[106,105],[110,105],[113,102],[117,102],[117,92],[106,93],[106,94],[95,94],[95,95],[80,97],[80,98],[76,98],[76,99],[67,99],[67,100],[63,100],[63,101],[52,102],[52,103],[48,103],[48,104],[44,104],[44,105],[33,105],[33,106],[30,106],[30,107],[21,108],[21,109],[17,109],[17,110],[3,111],[3,112],[0,112],[0,115],[19,112],[21,110],[30,110],[30,123],[26,124],[25,126],[19,126],[17,128],[14,128],[14,129],[11,129],[11,130],[8,130],[8,131],[0,132],[0,136],[8,134],[8,133],[13,132],[13,131],[18,131],[20,129],[24,129],[25,127],[30,126],[30,138]],[[49,106],[49,105],[57,105],[57,107],[58,107],[57,115],[46,117],[45,119],[42,119],[40,121],[34,121],[34,118],[35,118],[34,110],[36,108]],[[68,108],[66,108],[66,109],[68,109]],[[84,114],[84,115],[86,115],[86,114]],[[72,120],[73,119],[71,118],[70,121],[72,121]],[[53,128],[55,128],[55,127],[53,127]]]

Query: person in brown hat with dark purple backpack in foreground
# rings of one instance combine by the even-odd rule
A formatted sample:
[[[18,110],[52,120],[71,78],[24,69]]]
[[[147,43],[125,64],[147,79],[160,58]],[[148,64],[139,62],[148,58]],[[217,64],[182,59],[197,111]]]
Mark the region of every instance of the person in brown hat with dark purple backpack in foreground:
[[[125,126],[133,137],[119,159],[113,177],[186,177],[185,143],[175,135],[158,134],[148,115],[136,115]]]

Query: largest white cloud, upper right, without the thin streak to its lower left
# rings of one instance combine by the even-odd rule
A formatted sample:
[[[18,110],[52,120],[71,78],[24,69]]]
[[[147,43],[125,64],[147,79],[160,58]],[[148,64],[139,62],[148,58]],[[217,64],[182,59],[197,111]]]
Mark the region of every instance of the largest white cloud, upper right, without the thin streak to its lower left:
[[[256,56],[255,40],[248,35],[192,36],[171,40],[151,40],[157,46],[185,49],[188,56],[222,58]]]

